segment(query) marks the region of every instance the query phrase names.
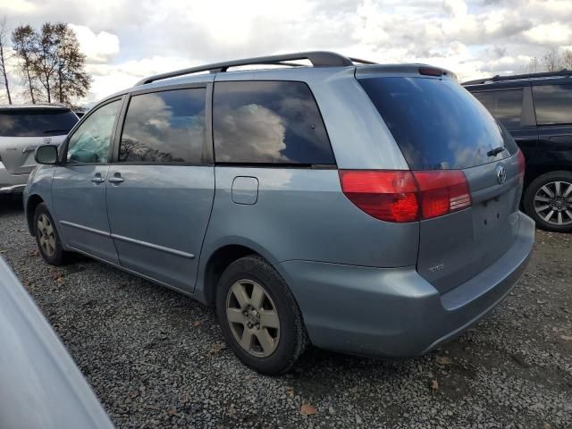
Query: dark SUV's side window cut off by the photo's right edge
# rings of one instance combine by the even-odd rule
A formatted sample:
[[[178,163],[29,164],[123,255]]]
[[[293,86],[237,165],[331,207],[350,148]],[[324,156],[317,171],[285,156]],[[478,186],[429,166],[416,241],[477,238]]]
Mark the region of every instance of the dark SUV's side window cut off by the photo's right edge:
[[[572,85],[539,85],[533,97],[538,125],[572,123]]]

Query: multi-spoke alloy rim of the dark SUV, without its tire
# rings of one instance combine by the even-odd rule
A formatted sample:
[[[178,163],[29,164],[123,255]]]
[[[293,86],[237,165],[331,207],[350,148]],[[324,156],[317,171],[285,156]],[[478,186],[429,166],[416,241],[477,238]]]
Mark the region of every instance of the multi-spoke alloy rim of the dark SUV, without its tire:
[[[572,183],[551,181],[534,194],[534,211],[555,226],[572,224]]]

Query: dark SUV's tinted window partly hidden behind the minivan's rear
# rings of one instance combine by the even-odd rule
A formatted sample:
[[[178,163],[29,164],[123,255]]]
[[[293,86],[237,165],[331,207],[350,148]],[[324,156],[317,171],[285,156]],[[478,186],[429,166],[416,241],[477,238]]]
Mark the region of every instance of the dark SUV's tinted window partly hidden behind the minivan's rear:
[[[522,88],[473,94],[508,129],[520,128]]]

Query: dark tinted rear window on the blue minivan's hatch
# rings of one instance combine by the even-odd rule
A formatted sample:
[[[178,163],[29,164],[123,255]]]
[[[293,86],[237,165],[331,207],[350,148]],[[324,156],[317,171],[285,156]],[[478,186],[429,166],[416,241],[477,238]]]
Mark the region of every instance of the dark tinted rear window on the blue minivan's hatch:
[[[452,80],[359,80],[413,170],[467,168],[509,156],[497,123],[483,105]]]

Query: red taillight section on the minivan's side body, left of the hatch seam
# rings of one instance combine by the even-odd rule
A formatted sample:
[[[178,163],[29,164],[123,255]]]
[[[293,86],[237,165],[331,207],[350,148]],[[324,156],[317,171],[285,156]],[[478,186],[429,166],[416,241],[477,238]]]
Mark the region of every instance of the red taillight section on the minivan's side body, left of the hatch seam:
[[[340,171],[341,189],[366,214],[388,222],[417,220],[417,186],[406,171]]]

